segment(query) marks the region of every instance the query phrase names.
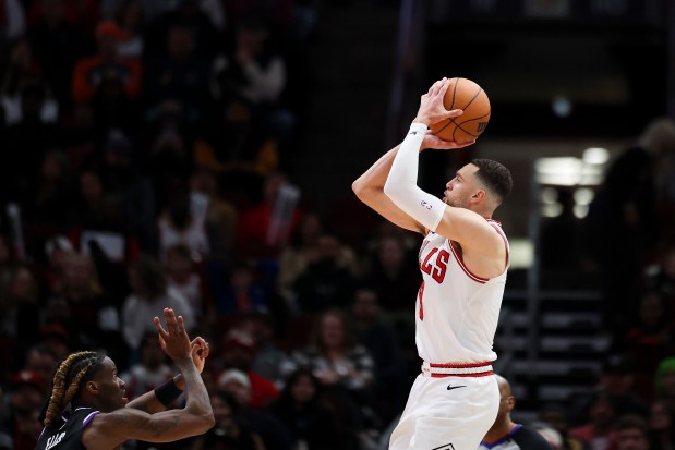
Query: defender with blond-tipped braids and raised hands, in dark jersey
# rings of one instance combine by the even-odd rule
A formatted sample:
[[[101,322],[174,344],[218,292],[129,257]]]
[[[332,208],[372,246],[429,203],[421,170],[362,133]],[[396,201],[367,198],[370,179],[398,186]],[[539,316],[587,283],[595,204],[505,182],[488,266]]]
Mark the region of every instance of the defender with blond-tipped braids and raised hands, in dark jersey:
[[[169,442],[203,434],[214,425],[200,376],[208,345],[201,338],[190,342],[183,318],[177,318],[173,309],[165,308],[164,318],[167,330],[155,317],[159,341],[180,375],[126,403],[124,381],[112,360],[96,352],[72,353],[53,376],[36,450],[109,450],[128,439]],[[165,411],[181,393],[180,386],[184,386],[185,406]]]

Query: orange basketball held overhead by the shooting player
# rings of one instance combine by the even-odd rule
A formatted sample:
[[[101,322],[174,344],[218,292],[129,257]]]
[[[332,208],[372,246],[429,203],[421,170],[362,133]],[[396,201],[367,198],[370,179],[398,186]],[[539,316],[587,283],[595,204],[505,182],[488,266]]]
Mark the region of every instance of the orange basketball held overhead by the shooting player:
[[[469,78],[450,78],[443,105],[447,110],[465,111],[459,117],[431,125],[432,133],[443,141],[472,141],[485,131],[490,121],[490,99],[475,82]]]

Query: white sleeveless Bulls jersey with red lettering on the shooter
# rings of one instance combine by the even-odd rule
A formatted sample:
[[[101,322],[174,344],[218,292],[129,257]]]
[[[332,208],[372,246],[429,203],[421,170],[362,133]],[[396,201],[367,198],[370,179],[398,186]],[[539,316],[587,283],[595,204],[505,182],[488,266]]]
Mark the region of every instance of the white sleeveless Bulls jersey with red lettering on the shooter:
[[[508,241],[499,222],[489,222]],[[510,253],[510,252],[509,252]],[[419,254],[422,285],[415,308],[418,353],[429,363],[480,363],[497,358],[492,344],[499,319],[506,269],[477,277],[447,238],[430,232]]]

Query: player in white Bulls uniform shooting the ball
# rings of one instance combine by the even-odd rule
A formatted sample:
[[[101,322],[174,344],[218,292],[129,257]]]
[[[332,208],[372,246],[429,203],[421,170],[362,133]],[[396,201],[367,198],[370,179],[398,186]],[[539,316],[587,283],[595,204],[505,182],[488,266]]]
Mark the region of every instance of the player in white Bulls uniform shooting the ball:
[[[424,236],[415,306],[415,342],[423,364],[391,435],[393,450],[475,450],[499,408],[492,344],[509,247],[492,215],[513,181],[499,162],[474,159],[446,183],[443,199],[418,187],[422,150],[453,150],[475,142],[442,141],[429,131],[462,113],[443,106],[447,88],[446,78],[431,86],[403,142],[352,184],[367,206]]]

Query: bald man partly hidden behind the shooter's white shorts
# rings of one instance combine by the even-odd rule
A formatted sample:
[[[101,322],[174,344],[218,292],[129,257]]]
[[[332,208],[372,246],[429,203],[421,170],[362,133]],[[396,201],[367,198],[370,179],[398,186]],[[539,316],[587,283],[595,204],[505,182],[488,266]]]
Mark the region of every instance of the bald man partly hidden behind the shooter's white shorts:
[[[516,398],[506,378],[495,375],[499,385],[499,411],[494,424],[485,434],[479,450],[552,450],[551,445],[534,428],[517,424],[511,419],[511,411],[516,408]]]

